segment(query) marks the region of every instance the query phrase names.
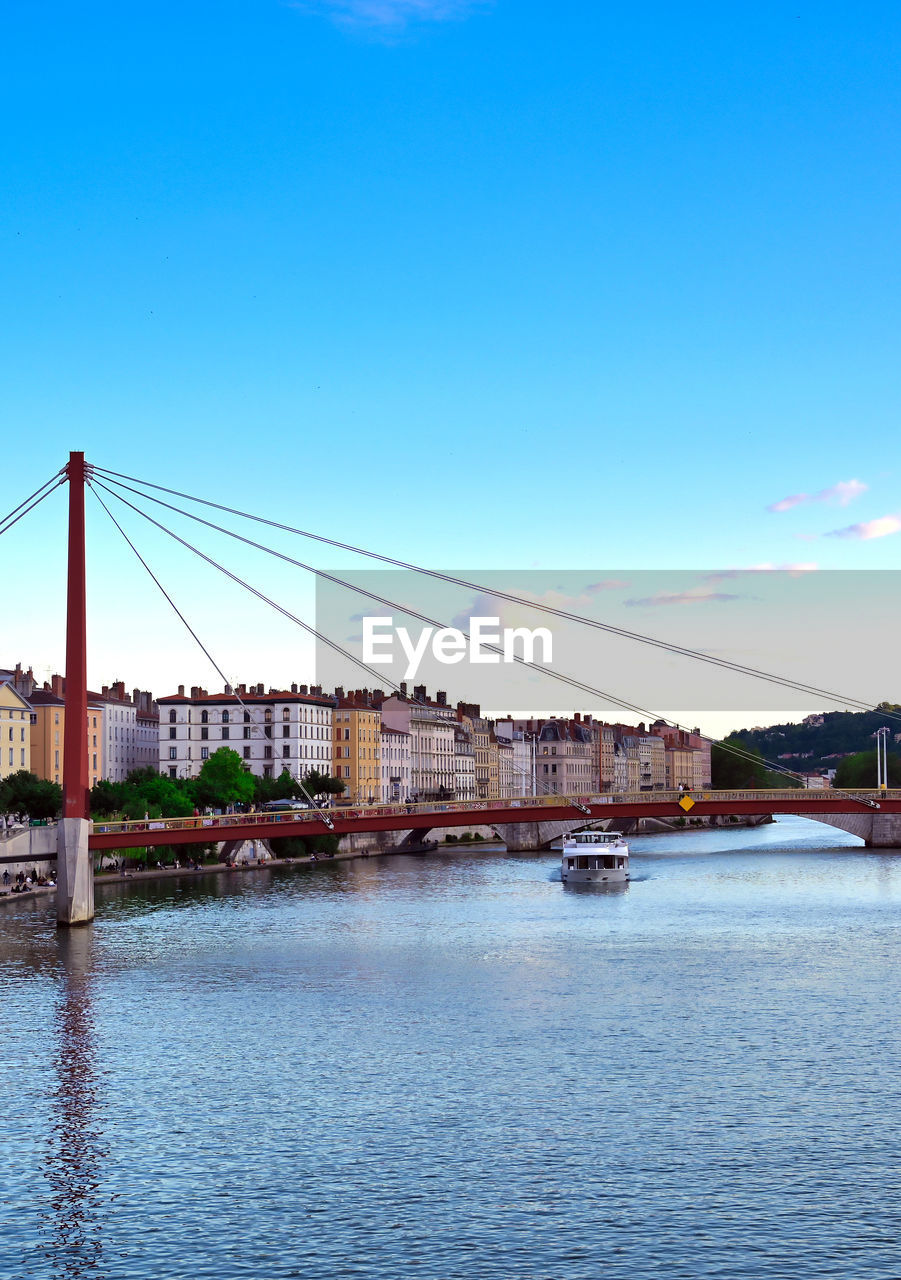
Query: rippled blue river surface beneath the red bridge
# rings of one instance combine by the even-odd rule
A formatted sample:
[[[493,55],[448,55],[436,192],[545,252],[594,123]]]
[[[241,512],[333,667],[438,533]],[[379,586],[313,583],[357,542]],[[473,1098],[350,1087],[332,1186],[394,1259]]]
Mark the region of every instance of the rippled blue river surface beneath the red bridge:
[[[632,847],[0,909],[0,1276],[895,1280],[901,854]]]

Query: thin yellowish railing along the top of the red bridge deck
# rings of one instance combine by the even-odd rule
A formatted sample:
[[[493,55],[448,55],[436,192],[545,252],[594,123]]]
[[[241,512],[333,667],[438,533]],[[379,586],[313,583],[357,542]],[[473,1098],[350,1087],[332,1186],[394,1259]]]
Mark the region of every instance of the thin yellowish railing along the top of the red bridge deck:
[[[842,796],[854,796],[860,799],[878,800],[879,797],[901,800],[901,790],[893,791],[842,791]],[[772,803],[785,803],[785,801],[797,801],[800,808],[817,808],[818,803],[834,801],[836,792],[829,790],[814,791],[814,790],[801,790],[799,787],[788,787],[786,790],[758,790],[758,791],[604,791],[589,795],[543,795],[543,796],[506,796],[497,800],[440,800],[440,801],[425,801],[417,804],[366,804],[366,805],[335,805],[326,812],[331,818],[379,818],[379,817],[397,817],[402,814],[410,815],[424,815],[429,813],[461,813],[461,814],[477,814],[485,813],[490,814],[491,820],[498,820],[499,813],[508,822],[517,820],[517,809],[572,809],[573,806],[584,806],[591,809],[603,809],[604,805],[641,805],[641,804],[666,804],[672,801],[678,804],[680,800],[685,800],[686,796],[694,801],[699,800],[717,800],[736,803],[754,803],[763,801],[761,808],[765,809],[767,804]],[[602,814],[594,813],[593,817],[603,817]],[[93,831],[104,835],[132,835],[136,832],[146,831],[154,835],[155,840],[159,840],[159,833],[165,831],[195,831],[198,828],[206,828],[210,832],[210,840],[228,838],[228,831],[233,827],[262,827],[271,829],[271,835],[275,836],[278,828],[287,823],[292,826],[302,823],[316,823],[321,822],[320,812],[315,809],[287,809],[261,813],[221,813],[221,814],[200,814],[192,815],[189,818],[142,818],[138,820],[129,822],[105,822],[99,820],[93,823]],[[224,833],[219,835],[219,833]],[[266,832],[269,835],[269,831]]]

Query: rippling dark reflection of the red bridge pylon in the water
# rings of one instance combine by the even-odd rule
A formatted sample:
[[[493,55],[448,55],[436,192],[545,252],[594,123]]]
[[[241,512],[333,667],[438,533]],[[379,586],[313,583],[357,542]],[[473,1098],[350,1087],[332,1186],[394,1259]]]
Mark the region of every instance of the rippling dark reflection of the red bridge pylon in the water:
[[[54,1018],[56,1085],[42,1172],[50,1184],[50,1212],[42,1224],[44,1253],[54,1276],[102,1276],[100,1192],[109,1155],[100,1128],[91,960],[93,928],[56,934],[60,986]]]

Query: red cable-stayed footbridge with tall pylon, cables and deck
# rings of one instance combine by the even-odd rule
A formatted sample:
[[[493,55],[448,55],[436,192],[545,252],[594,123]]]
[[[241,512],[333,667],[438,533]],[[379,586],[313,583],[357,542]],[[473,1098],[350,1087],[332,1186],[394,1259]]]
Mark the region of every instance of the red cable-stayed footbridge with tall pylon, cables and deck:
[[[868,845],[901,846],[901,791],[804,791],[797,787],[786,790],[761,791],[703,791],[686,795],[677,791],[641,791],[621,794],[585,794],[585,795],[523,795],[520,797],[506,797],[503,800],[459,800],[435,801],[430,804],[383,804],[365,806],[342,806],[324,809],[311,799],[311,806],[305,812],[292,813],[244,813],[244,814],[219,814],[193,818],[164,818],[159,820],[145,819],[143,822],[97,822],[91,823],[88,805],[88,749],[84,726],[87,723],[88,698],[87,698],[87,631],[86,631],[86,549],[84,549],[84,494],[86,489],[92,489],[104,511],[119,530],[128,545],[137,556],[152,581],[156,584],[169,605],[184,623],[195,641],[200,645],[206,658],[228,685],[224,672],[214,659],[210,650],[201,641],[188,620],[178,608],[171,595],[165,590],[159,577],[150,568],[141,556],[132,539],[125,534],[119,521],[113,515],[109,503],[101,495],[118,499],[133,512],[141,515],[157,530],[174,538],[188,550],[197,554],[207,564],[225,573],[232,581],[246,588],[261,602],[276,609],[308,634],[315,635],[320,641],[338,650],[344,658],[355,662],[367,671],[376,682],[385,682],[380,672],[374,671],[361,662],[355,654],[342,649],[333,639],[321,635],[302,618],[285,609],[278,602],[270,599],[251,582],[238,577],[224,564],[214,561],[210,556],[193,547],[188,540],[177,535],[163,521],[155,520],[143,507],[132,499],[147,499],[161,508],[178,511],[187,515],[198,524],[228,534],[239,541],[260,550],[269,552],[282,561],[287,561],[299,568],[315,573],[343,586],[349,586],[340,577],[317,570],[314,566],[266,548],[264,544],[234,532],[206,517],[184,511],[173,503],[156,497],[148,490],[165,493],[169,497],[182,498],[189,502],[201,503],[206,508],[230,512],[259,524],[269,525],[280,530],[298,534],[303,538],[312,538],[319,543],[352,550],[367,556],[379,562],[429,573],[457,585],[485,590],[479,584],[468,582],[452,575],[438,571],[424,570],[397,558],[380,556],[365,548],[351,547],[335,539],[323,535],[310,534],[303,530],[292,529],[276,521],[264,517],[251,516],[246,512],[235,511],[220,503],[206,499],[191,498],[177,490],[161,485],[151,485],[148,481],[140,481],[131,476],[123,476],[106,468],[88,466],[84,454],[73,452],[69,462],[55,476],[52,476],[41,489],[20,503],[4,521],[0,521],[0,534],[12,529],[23,516],[28,515],[38,503],[44,502],[59,485],[69,486],[69,524],[68,524],[68,586],[67,586],[67,654],[65,654],[65,726],[64,726],[64,756],[63,756],[63,818],[58,827],[58,919],[60,924],[79,924],[93,918],[93,872],[92,851],[110,849],[133,849],[159,845],[191,845],[220,841],[243,840],[269,840],[273,837],[308,836],[333,832],[334,835],[352,835],[355,832],[404,832],[416,833],[420,837],[430,831],[447,827],[486,826],[498,832],[512,849],[536,849],[546,845],[552,838],[575,827],[589,826],[599,822],[631,822],[640,818],[660,818],[669,820],[685,819],[686,814],[695,818],[713,818],[727,815],[773,815],[773,814],[801,814],[814,818],[831,826],[841,827],[860,836]],[[131,497],[127,497],[131,494]],[[408,604],[398,605],[397,602],[388,600],[372,591],[358,586],[351,588],[358,594],[367,595],[375,603],[388,607],[401,608],[407,614],[421,621],[443,626],[438,620],[424,613],[417,613]],[[585,623],[586,626],[613,632],[639,644],[655,645],[671,653],[695,658],[699,662],[714,663],[731,669],[738,675],[751,678],[767,680],[774,685],[782,685],[800,690],[811,698],[829,699],[831,701],[851,707],[852,709],[872,709],[860,699],[846,698],[829,690],[817,689],[786,677],[759,671],[756,668],[732,662],[731,659],[699,653],[687,648],[662,641],[639,632],[626,631],[598,620],[582,618],[578,614],[557,609],[550,605],[539,604],[534,600],[523,600],[509,593],[493,590],[490,594],[513,600],[517,604],[526,604],[530,608],[541,609],[558,617]],[[489,645],[490,648],[490,645]],[[523,660],[525,659],[517,659]],[[549,677],[562,681],[568,687],[578,689],[613,705],[618,705],[630,713],[642,718],[654,719],[654,712],[618,698],[608,690],[599,690],[577,676],[567,676],[561,672],[545,671]],[[387,681],[387,684],[392,684]],[[393,686],[395,690],[399,686]],[[891,712],[887,717],[898,718]],[[728,748],[738,756],[745,755],[741,748],[730,745]],[[791,771],[776,765],[776,768],[792,777]]]

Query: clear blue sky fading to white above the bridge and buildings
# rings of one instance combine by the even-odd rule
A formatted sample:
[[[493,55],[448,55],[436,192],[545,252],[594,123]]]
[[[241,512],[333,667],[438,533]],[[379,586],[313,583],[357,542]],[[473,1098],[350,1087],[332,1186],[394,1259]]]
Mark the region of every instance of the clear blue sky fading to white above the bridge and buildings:
[[[12,0],[4,28],[4,509],[83,448],[433,564],[895,567],[897,5]],[[55,508],[0,544],[45,582],[3,662],[61,662]],[[214,678],[163,605],[122,657],[141,571],[91,536],[95,678]],[[265,680],[257,617],[234,662]]]

